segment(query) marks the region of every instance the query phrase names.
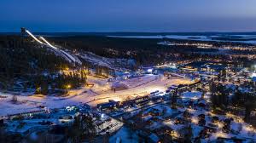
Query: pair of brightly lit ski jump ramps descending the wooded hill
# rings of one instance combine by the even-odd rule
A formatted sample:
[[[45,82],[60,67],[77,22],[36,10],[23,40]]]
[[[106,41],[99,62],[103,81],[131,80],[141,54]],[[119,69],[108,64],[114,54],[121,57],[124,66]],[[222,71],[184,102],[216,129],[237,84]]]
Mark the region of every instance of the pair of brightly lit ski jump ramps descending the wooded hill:
[[[37,43],[39,43],[40,45],[42,45],[43,47],[46,47],[50,50],[52,50],[53,52],[55,52],[55,54],[61,55],[61,57],[63,57],[65,60],[67,60],[69,63],[72,63],[73,65],[82,65],[82,62],[79,60],[78,57],[74,56],[73,54],[69,54],[66,51],[62,50],[62,49],[58,49],[56,48],[54,45],[52,45],[51,43],[49,43],[44,37],[35,37],[32,32],[26,30],[26,28],[22,27],[21,28],[21,32],[22,33],[27,33],[30,37],[32,37]]]

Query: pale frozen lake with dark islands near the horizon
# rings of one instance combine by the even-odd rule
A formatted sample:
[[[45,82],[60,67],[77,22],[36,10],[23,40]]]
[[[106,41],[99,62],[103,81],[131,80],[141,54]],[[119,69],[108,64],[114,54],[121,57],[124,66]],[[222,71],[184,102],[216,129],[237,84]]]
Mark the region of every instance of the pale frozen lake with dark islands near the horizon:
[[[256,35],[212,35],[212,36],[195,36],[195,35],[150,35],[150,36],[108,36],[124,38],[171,38],[180,40],[194,41],[216,41],[216,42],[233,42],[233,43],[252,43],[256,44]]]

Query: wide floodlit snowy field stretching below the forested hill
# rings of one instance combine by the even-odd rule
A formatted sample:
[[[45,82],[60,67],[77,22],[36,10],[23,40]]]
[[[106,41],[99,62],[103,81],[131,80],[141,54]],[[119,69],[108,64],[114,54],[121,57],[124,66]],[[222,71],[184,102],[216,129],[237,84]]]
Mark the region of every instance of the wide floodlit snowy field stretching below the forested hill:
[[[41,110],[38,106],[48,108],[61,108],[64,106],[73,106],[82,103],[87,103],[90,106],[96,106],[108,100],[122,101],[128,96],[136,97],[147,95],[155,90],[165,91],[167,87],[174,84],[190,83],[188,78],[173,77],[167,79],[159,75],[146,75],[144,77],[132,78],[122,81],[129,89],[113,92],[111,86],[113,83],[108,83],[108,79],[96,78],[88,76],[88,81],[94,83],[93,87],[84,87],[82,89],[73,89],[69,91],[66,97],[44,96],[44,95],[17,95],[18,103],[11,102],[12,94],[3,94],[7,98],[0,99],[0,116],[15,114],[20,112],[32,112]]]

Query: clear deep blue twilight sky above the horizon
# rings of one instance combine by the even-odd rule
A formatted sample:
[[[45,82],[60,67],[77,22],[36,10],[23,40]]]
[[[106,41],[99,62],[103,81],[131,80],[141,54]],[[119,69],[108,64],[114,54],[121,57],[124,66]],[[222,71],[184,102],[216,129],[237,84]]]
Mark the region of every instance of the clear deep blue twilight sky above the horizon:
[[[31,31],[256,31],[256,0],[0,0],[0,31],[20,31],[20,26]]]

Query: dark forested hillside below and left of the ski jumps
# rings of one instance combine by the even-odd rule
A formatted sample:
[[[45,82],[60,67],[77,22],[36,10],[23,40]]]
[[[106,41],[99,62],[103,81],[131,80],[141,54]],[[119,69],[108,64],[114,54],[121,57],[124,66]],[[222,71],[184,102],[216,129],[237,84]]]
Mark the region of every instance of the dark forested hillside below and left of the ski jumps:
[[[67,83],[76,88],[85,83],[84,74],[58,74],[67,67],[73,69],[60,56],[33,43],[31,37],[0,36],[0,89],[13,90],[21,81],[24,90],[40,88],[46,94],[48,88],[65,89]]]

